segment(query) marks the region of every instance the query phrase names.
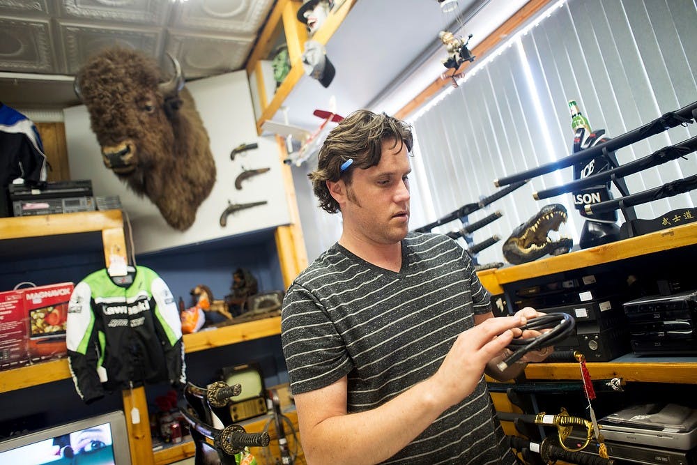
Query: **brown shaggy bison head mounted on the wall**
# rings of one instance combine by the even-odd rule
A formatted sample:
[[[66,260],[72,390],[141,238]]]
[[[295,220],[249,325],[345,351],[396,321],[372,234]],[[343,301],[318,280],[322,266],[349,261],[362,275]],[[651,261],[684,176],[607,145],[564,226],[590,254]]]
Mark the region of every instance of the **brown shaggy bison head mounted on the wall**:
[[[133,49],[105,49],[75,77],[104,165],[139,196],[158,207],[174,229],[185,231],[215,183],[210,139],[184,87],[178,61],[174,77]]]

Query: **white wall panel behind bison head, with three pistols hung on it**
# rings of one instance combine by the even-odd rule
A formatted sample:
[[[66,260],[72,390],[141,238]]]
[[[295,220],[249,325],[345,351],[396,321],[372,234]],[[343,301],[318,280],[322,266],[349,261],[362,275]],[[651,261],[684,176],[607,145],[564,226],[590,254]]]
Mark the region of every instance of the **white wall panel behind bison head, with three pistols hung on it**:
[[[208,131],[217,169],[213,190],[199,207],[196,221],[187,231],[169,227],[149,199],[137,197],[104,166],[84,105],[64,110],[70,176],[72,179],[91,179],[94,195],[120,197],[123,211],[132,223],[136,253],[210,241],[290,222],[278,148],[273,139],[256,135],[245,71],[199,79],[186,86]],[[259,144],[259,148],[230,160],[232,148],[253,142]],[[270,167],[270,171],[247,179],[243,189],[237,190],[234,181],[243,167]],[[266,200],[268,204],[233,213],[227,218],[227,227],[221,227],[220,215],[228,200],[233,203]]]

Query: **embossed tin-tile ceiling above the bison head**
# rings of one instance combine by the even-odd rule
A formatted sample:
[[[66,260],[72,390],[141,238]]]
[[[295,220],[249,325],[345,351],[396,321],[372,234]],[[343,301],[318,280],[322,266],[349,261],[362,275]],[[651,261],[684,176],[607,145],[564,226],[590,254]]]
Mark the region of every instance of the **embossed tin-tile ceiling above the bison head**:
[[[22,109],[78,103],[72,77],[103,47],[140,49],[187,79],[244,67],[274,0],[0,0],[0,99]]]

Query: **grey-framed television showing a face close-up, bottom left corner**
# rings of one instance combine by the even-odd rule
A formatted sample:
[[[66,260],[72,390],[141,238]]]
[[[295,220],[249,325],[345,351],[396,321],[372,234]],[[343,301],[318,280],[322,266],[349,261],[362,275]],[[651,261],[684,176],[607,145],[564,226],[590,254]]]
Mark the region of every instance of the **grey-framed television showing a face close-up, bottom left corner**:
[[[0,441],[0,464],[130,465],[123,412],[11,436]]]

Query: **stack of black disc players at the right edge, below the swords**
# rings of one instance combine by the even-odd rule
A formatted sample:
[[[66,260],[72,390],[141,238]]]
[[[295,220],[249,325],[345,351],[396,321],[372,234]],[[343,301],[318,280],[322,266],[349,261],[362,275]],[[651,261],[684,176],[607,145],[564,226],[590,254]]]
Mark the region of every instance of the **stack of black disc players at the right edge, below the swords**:
[[[624,309],[636,355],[697,354],[697,291],[638,298]]]

